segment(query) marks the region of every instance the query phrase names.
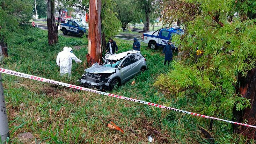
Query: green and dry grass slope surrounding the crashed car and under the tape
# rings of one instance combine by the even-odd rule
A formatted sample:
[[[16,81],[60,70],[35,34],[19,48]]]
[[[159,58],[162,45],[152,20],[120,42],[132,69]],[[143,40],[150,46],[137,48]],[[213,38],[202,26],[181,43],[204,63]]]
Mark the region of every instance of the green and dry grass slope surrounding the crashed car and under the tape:
[[[116,42],[119,52],[123,52],[131,49],[133,41],[116,39]],[[82,38],[59,36],[59,43],[49,47],[47,31],[27,28],[14,34],[8,43],[10,57],[1,64],[7,69],[77,84],[76,80],[86,66],[83,62],[87,41]],[[75,45],[82,45],[80,50],[73,51],[83,62],[73,62],[71,78],[60,77],[55,58],[64,46]],[[171,66],[163,66],[164,56],[160,50],[149,50],[142,43],[142,54],[146,55],[149,70],[112,93],[189,110],[186,99],[174,102],[175,98],[164,96],[152,86],[159,74],[171,69]],[[206,142],[198,127],[208,127],[207,119],[84,91],[73,93],[69,88],[15,76],[3,75],[3,78],[13,142],[17,142],[17,135],[23,132],[31,132],[37,141],[46,143],[146,143],[148,135],[152,135],[154,142],[158,143]],[[133,80],[135,85],[131,85]],[[124,129],[125,133],[107,128],[106,124],[110,121]],[[25,124],[16,130],[22,123]]]

